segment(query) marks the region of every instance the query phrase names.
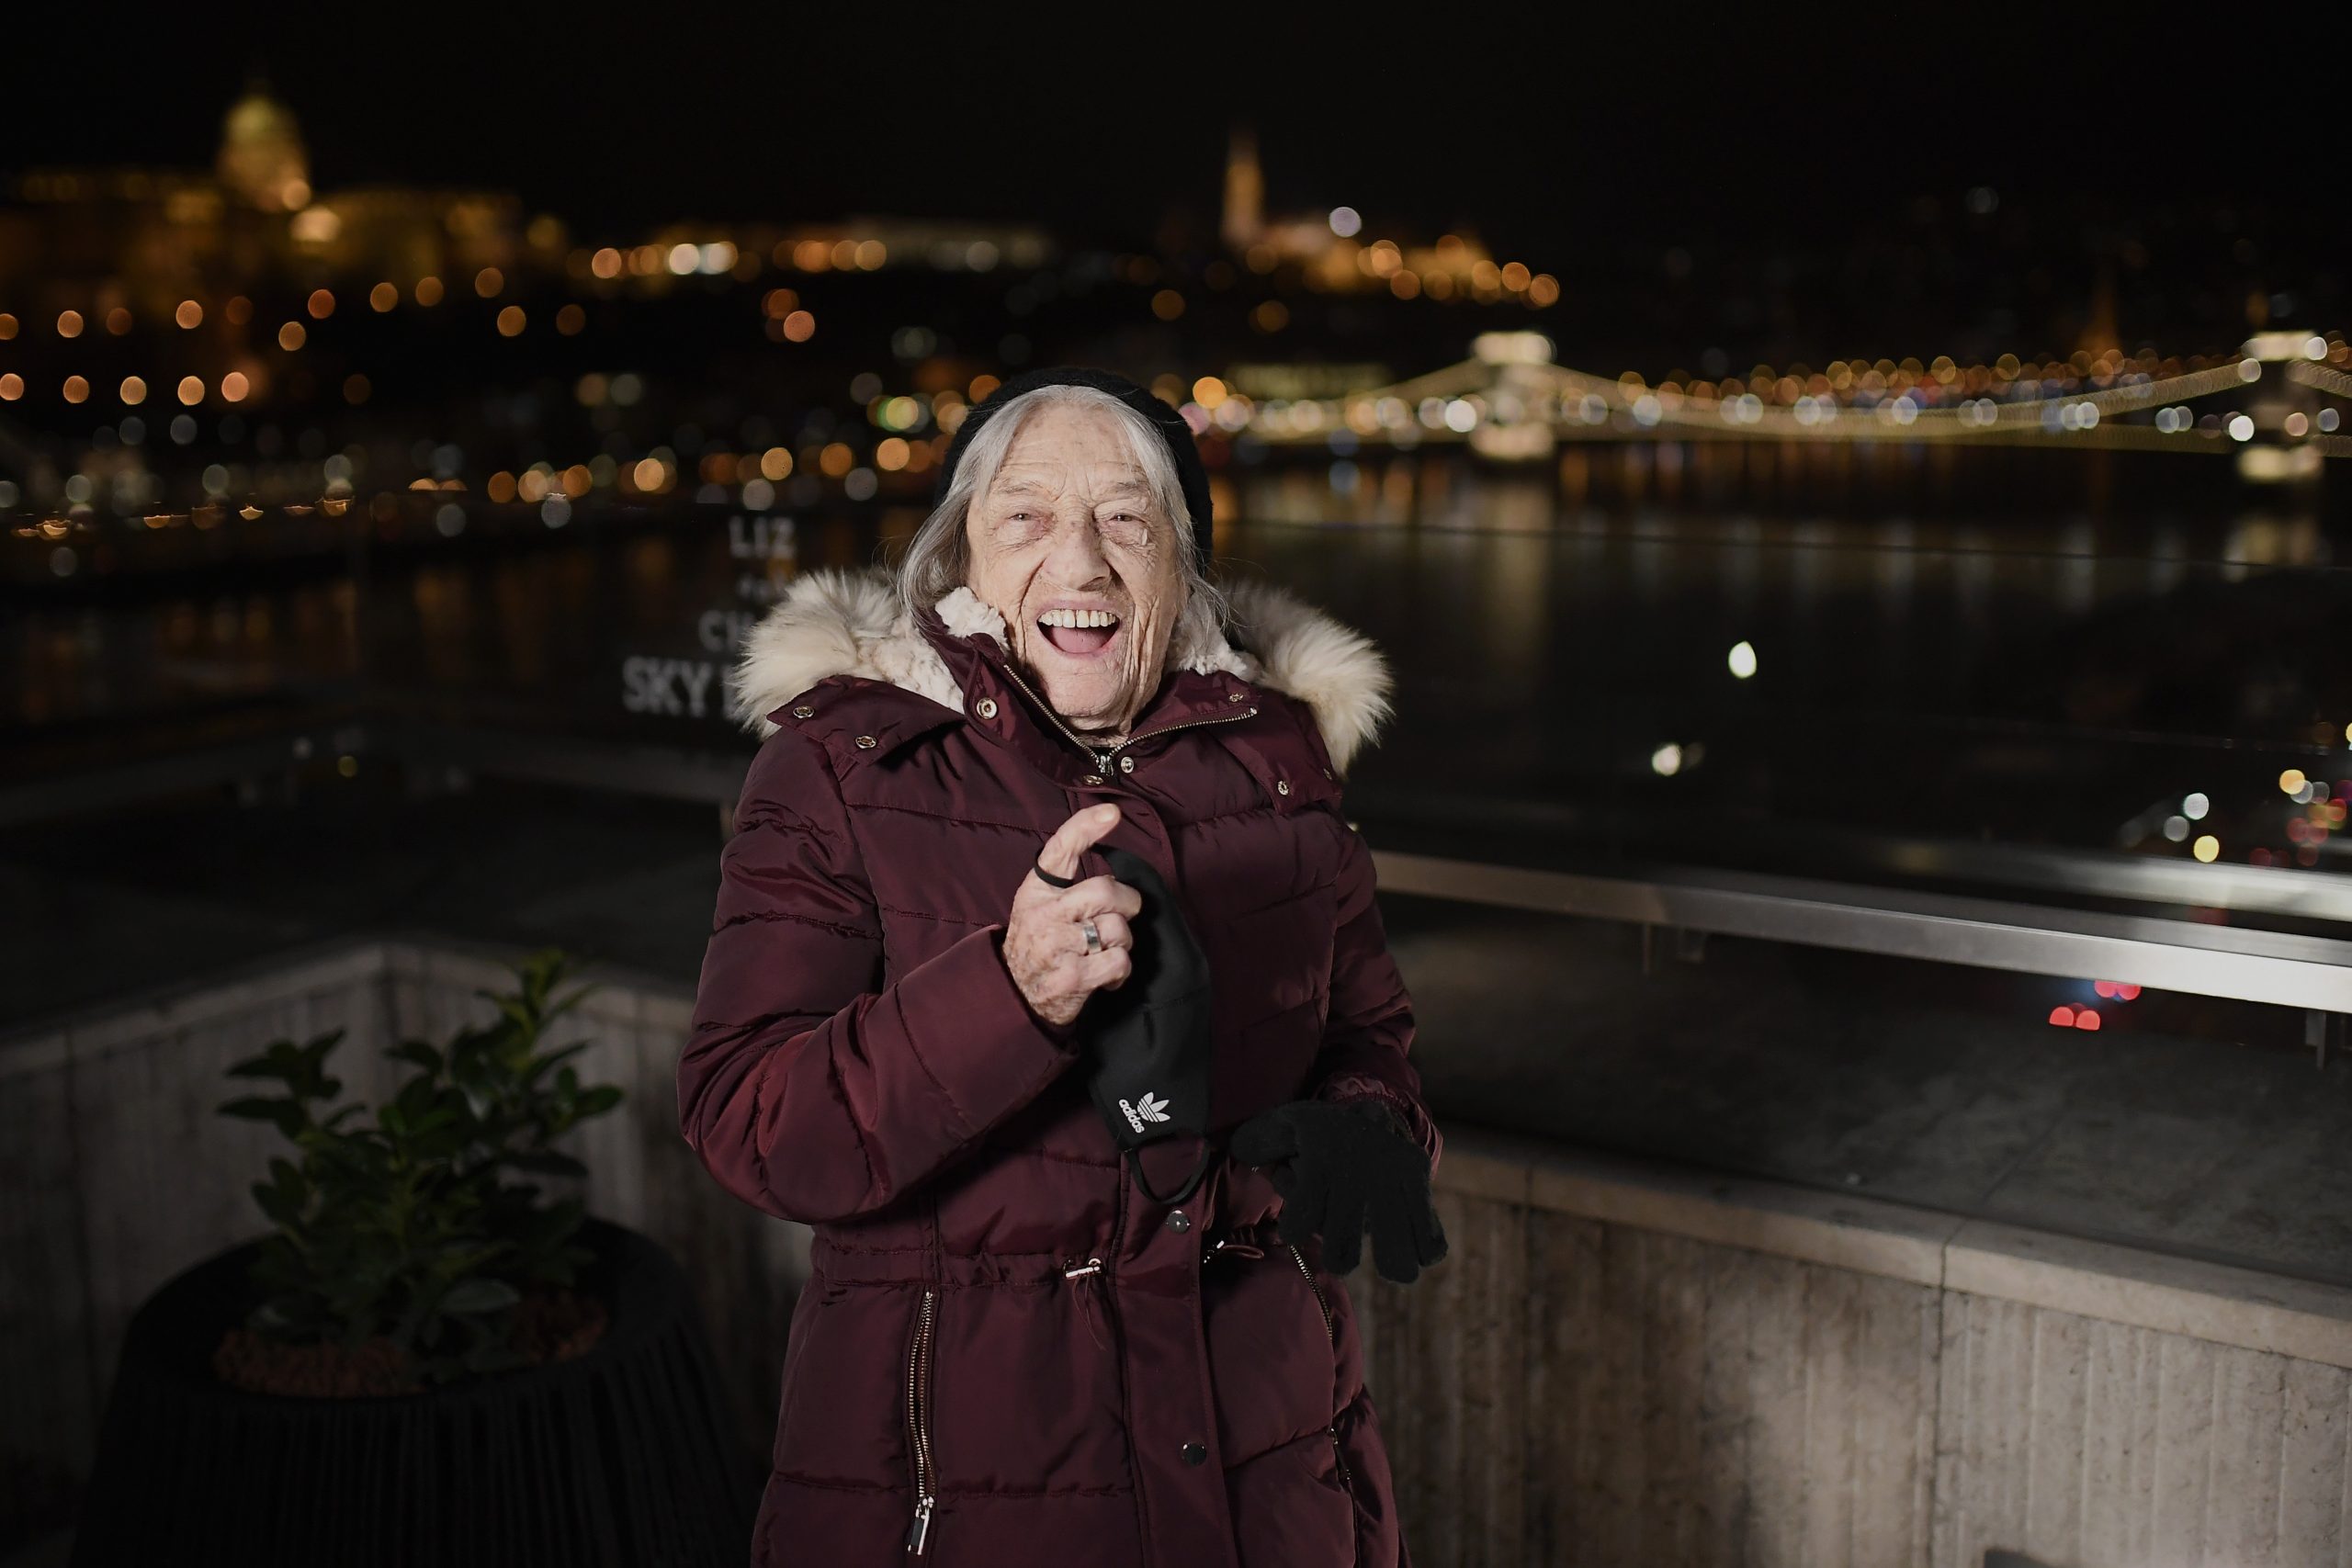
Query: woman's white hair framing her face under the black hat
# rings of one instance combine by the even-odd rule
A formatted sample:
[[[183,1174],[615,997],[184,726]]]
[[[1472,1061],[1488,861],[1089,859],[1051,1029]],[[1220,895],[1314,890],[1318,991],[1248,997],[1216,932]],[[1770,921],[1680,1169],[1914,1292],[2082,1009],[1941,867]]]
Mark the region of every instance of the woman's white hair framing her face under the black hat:
[[[1176,529],[1176,571],[1183,578],[1185,602],[1176,628],[1169,635],[1167,661],[1174,663],[1181,649],[1207,646],[1223,637],[1232,623],[1232,607],[1225,592],[1209,581],[1207,562],[1200,559],[1200,541],[1192,536],[1192,510],[1183,501],[1183,482],[1176,477],[1176,458],[1169,456],[1160,430],[1141,409],[1124,397],[1115,397],[1091,386],[1042,386],[1033,393],[1009,397],[988,416],[955,461],[955,477],[948,491],[931,508],[931,515],[915,529],[915,538],[898,562],[898,599],[913,614],[938,604],[971,581],[971,541],[964,531],[971,503],[988,494],[1011,449],[1014,437],[1030,414],[1044,407],[1103,409],[1127,437],[1127,451],[1143,470],[1152,503]]]

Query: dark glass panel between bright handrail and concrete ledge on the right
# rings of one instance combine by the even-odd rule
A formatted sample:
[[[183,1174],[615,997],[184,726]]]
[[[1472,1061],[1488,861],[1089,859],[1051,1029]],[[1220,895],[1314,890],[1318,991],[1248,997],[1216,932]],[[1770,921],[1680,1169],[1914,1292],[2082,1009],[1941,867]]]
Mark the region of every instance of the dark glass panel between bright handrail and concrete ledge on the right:
[[[2291,1009],[1381,905],[1465,1126],[2343,1276],[2347,1063]]]

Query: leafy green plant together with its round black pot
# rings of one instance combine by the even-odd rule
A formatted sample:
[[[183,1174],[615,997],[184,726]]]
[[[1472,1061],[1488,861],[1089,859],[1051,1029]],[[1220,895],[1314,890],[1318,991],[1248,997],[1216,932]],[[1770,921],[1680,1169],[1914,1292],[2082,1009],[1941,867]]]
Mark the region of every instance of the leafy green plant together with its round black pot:
[[[755,1476],[727,1436],[677,1265],[539,1178],[612,1112],[583,1044],[550,1048],[569,959],[515,966],[499,1016],[369,1110],[341,1030],[230,1067],[221,1112],[292,1145],[254,1199],[270,1232],[134,1314],[78,1563],[727,1563]]]

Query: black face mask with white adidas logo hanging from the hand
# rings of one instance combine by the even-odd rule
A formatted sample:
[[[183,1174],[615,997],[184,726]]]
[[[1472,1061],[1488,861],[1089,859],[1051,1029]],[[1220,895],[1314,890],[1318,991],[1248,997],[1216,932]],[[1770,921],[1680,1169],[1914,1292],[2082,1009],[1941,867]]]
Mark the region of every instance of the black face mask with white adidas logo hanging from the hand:
[[[1152,1192],[1138,1152],[1162,1138],[1209,1131],[1209,959],[1150,860],[1124,849],[1096,853],[1112,877],[1143,896],[1143,912],[1129,922],[1134,971],[1120,990],[1087,997],[1080,1018],[1091,1048],[1087,1088],[1143,1197],[1181,1204],[1209,1173],[1216,1150],[1204,1147],[1192,1175],[1169,1197]]]

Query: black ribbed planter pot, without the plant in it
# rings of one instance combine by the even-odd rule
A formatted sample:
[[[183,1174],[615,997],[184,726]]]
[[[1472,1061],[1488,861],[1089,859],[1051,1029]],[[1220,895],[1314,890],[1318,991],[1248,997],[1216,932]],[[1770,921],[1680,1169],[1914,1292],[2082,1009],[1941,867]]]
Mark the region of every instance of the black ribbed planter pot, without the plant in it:
[[[200,1262],[129,1324],[75,1535],[78,1568],[741,1568],[760,1476],[729,1436],[677,1265],[588,1220],[593,1349],[395,1399],[219,1382],[259,1244]]]

